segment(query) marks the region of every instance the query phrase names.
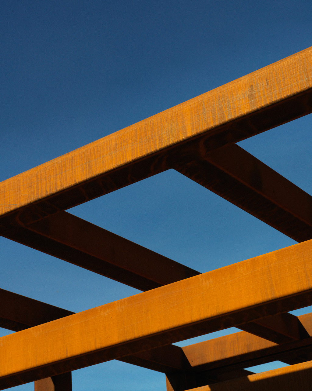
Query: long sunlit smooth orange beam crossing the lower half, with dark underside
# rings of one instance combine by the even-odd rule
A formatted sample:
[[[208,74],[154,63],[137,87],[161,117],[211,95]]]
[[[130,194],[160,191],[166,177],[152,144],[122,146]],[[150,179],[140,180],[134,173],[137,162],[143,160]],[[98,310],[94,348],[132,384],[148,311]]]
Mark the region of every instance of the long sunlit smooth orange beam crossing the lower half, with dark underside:
[[[4,336],[0,386],[310,305],[311,249],[303,242]],[[12,359],[12,352],[19,354]]]

